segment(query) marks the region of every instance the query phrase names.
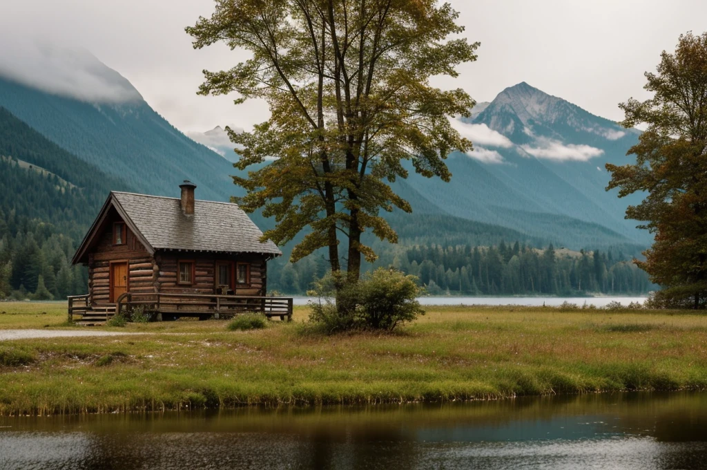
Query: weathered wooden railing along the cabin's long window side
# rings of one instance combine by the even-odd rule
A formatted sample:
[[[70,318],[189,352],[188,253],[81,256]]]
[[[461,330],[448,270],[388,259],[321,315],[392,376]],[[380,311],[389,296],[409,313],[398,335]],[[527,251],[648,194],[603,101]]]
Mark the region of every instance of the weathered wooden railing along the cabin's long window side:
[[[235,314],[257,311],[269,319],[292,320],[291,297],[258,297],[218,294],[166,294],[126,292],[116,300],[117,313],[141,306],[145,311],[159,314],[162,319],[197,316],[201,319],[228,318]]]

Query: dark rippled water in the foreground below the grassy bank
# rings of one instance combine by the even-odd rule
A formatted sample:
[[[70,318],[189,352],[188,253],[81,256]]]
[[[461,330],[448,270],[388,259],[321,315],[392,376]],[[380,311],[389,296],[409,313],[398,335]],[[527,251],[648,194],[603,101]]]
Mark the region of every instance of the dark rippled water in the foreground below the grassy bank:
[[[703,469],[707,394],[0,418],[0,469]]]

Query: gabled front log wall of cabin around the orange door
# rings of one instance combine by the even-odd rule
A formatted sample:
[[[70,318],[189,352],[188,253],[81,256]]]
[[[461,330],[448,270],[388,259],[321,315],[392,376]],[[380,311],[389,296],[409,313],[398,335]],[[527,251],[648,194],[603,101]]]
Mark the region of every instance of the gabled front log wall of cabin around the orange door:
[[[127,260],[128,290],[155,292],[153,259],[137,237],[126,227],[123,245],[113,245],[113,222],[122,222],[117,213],[106,224],[93,253],[88,256],[88,295],[91,304],[110,302],[110,262]]]

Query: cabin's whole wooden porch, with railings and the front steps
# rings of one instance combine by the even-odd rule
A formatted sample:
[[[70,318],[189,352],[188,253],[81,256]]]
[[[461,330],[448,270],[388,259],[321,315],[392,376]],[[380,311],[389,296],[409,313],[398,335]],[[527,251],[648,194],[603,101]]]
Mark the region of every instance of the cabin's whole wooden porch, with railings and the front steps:
[[[259,312],[268,319],[291,321],[291,297],[246,296],[229,294],[174,294],[164,292],[125,292],[115,303],[90,304],[88,295],[69,296],[69,321],[97,325],[110,320],[118,312],[141,307],[158,321],[182,317],[199,320],[230,319],[237,314]]]

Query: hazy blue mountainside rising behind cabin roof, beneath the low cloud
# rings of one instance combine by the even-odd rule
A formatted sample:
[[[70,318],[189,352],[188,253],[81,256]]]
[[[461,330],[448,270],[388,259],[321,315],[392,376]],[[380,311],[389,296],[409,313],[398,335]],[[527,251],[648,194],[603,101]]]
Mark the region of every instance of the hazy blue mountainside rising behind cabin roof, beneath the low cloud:
[[[92,69],[101,72],[98,79],[120,77],[99,64]],[[176,195],[178,183],[185,179],[196,183],[205,199],[228,200],[237,190],[229,177],[233,167],[226,159],[170,125],[137,91],[126,101],[84,101],[0,77],[0,105],[59,147],[134,190]]]

